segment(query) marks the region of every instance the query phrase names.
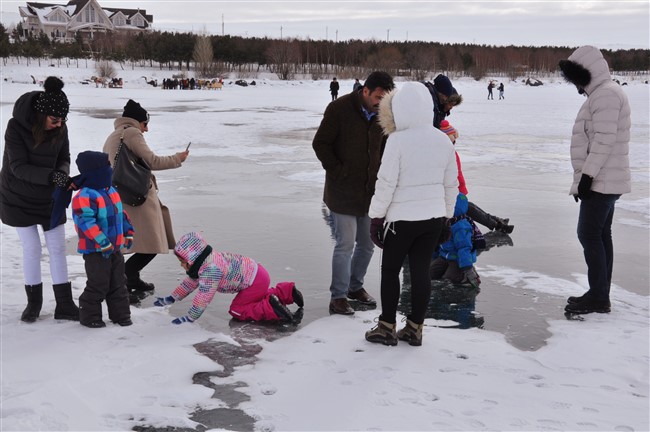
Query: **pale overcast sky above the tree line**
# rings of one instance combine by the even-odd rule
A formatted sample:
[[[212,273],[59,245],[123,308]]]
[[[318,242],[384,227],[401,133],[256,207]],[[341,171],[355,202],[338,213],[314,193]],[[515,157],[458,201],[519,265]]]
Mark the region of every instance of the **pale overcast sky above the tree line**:
[[[2,23],[18,22],[18,6],[24,4],[2,0]],[[650,45],[648,0],[104,0],[100,5],[141,7],[153,15],[157,30],[215,35],[603,49],[648,49]]]

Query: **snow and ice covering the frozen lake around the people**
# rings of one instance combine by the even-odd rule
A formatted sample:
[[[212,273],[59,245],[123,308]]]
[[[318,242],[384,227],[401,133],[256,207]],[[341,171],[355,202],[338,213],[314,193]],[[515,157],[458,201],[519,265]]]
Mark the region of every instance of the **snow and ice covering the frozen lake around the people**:
[[[619,77],[633,113],[633,192],[614,217],[612,312],[582,322],[562,314],[566,296],[587,285],[575,235],[578,207],[567,195],[569,139],[583,97],[555,78],[541,87],[505,81],[506,99],[495,92],[488,101],[486,81],[454,80],[464,102],[449,120],[460,132],[470,197],[511,218],[514,247],[482,254],[477,263],[484,329],[427,319],[422,347],[384,347],[363,337],[379,311],[327,315],[332,241],[311,139],[330,99],[329,78],[280,82],[269,75],[245,88],[233,78],[222,91],[166,91],[142,78],[161,82],[175,72],[124,70],[124,88],[107,89],[81,83],[95,74],[92,66],[3,65],[2,136],[13,102],[38,89],[30,75],[61,77],[76,174],[76,155],[101,150],[126,101],[140,102],[151,114],[146,139],[158,154],[192,141],[182,168],[157,173],[176,236],[204,231],[215,248],[263,262],[274,281],[295,280],[305,293],[302,324],[232,323],[232,297],[219,295],[193,325],[170,324],[187,302],[159,309],[149,298],[132,307],[133,326],[88,329],[55,321],[47,288],[41,318],[25,324],[21,251],[15,230],[2,225],[2,431],[199,424],[259,431],[650,430],[647,77]],[[340,94],[351,88],[352,80],[342,80]],[[70,222],[66,230],[78,298],[83,260]],[[377,252],[366,280],[376,297],[379,258]],[[45,255],[44,287],[51,285],[47,261]],[[182,276],[176,259],[163,255],[150,267],[156,294],[168,295]],[[495,296],[502,304],[488,300]],[[511,313],[517,318],[506,321]],[[526,314],[545,323],[544,343],[534,349],[512,340],[528,331]],[[199,372],[208,372],[203,385],[193,381]]]

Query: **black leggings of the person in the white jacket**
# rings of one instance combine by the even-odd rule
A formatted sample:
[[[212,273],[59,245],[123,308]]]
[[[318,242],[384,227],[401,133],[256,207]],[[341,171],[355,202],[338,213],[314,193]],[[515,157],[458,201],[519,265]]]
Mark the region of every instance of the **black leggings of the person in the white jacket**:
[[[443,225],[442,218],[424,221],[398,221],[390,224],[384,238],[381,258],[381,317],[394,323],[399,302],[399,273],[408,256],[411,271],[411,313],[408,319],[416,324],[424,322],[431,296],[429,263],[437,246]]]

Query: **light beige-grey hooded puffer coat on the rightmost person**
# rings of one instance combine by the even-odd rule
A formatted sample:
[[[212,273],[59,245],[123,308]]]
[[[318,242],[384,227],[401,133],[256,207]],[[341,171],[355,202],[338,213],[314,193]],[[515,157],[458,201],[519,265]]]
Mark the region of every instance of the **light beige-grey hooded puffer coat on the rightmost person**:
[[[578,194],[582,174],[594,179],[591,190],[595,192],[630,192],[631,120],[627,95],[612,81],[607,61],[593,46],[578,48],[568,60],[560,62],[560,67],[565,78],[587,95],[571,137],[570,194]]]

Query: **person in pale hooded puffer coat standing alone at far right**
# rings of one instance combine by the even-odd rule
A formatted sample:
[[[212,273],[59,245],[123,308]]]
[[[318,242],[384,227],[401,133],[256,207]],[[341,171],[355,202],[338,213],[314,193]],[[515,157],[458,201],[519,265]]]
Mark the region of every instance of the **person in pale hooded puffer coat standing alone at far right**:
[[[630,178],[630,104],[609,73],[598,48],[583,46],[560,61],[564,78],[587,97],[571,136],[573,184],[580,201],[578,239],[587,262],[589,290],[569,297],[568,313],[610,311],[614,248],[612,219],[619,197],[632,190]]]

